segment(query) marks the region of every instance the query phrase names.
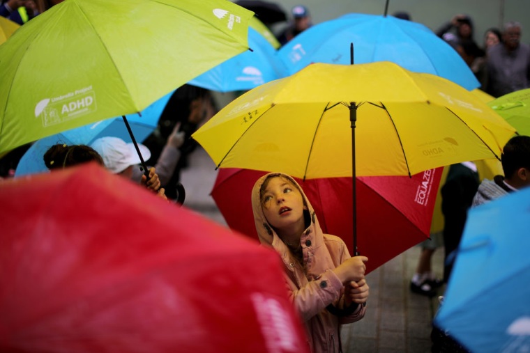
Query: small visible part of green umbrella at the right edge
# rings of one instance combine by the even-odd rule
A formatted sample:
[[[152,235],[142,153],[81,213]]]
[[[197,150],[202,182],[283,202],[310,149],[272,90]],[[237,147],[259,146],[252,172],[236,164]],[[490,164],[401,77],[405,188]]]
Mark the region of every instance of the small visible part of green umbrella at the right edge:
[[[518,134],[530,136],[530,88],[508,93],[487,105],[515,127]]]

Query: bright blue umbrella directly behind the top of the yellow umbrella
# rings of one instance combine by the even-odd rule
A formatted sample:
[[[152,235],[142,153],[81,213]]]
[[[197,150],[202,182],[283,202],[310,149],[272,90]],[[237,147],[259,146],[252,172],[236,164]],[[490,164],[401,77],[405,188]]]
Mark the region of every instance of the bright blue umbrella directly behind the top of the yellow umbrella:
[[[310,63],[392,61],[414,72],[444,77],[471,91],[480,83],[459,54],[423,24],[393,16],[351,13],[311,26],[278,51],[289,74]],[[362,84],[360,82],[359,84]]]

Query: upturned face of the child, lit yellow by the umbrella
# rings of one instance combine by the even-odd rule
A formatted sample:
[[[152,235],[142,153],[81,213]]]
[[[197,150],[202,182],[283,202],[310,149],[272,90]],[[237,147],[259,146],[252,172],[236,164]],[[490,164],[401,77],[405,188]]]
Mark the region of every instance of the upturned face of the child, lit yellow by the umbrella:
[[[303,198],[289,180],[273,177],[262,194],[262,208],[268,223],[281,231],[303,222]]]

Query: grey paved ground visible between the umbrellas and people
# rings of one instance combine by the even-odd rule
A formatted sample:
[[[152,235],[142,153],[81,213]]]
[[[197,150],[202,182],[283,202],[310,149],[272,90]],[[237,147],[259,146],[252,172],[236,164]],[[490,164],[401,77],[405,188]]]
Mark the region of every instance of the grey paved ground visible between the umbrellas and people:
[[[184,205],[227,226],[210,196],[216,176],[215,164],[199,146],[190,155],[189,166],[181,173],[186,190]],[[368,274],[368,310],[363,320],[342,327],[343,352],[430,352],[431,322],[438,299],[409,290],[419,255],[420,248],[414,246]],[[443,273],[443,257],[444,249],[438,249],[432,258],[433,271],[438,277]],[[439,289],[440,295],[443,290]]]

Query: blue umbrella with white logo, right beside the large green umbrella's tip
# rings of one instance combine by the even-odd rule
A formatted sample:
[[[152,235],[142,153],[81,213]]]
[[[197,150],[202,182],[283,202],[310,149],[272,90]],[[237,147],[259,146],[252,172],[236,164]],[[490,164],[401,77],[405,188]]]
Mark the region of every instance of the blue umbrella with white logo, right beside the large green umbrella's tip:
[[[218,92],[248,91],[287,76],[287,68],[276,49],[252,27],[248,28],[248,44],[253,52],[236,55],[188,84]]]

